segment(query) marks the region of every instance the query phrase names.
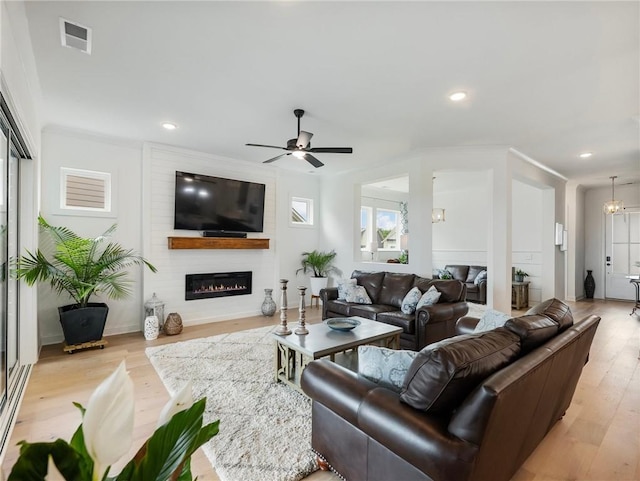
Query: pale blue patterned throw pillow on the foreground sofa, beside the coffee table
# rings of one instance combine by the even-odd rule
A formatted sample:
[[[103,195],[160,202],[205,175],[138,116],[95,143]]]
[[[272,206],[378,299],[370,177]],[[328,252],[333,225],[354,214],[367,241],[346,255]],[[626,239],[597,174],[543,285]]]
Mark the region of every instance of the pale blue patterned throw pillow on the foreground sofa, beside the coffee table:
[[[417,351],[378,346],[358,347],[358,374],[382,387],[399,393]]]

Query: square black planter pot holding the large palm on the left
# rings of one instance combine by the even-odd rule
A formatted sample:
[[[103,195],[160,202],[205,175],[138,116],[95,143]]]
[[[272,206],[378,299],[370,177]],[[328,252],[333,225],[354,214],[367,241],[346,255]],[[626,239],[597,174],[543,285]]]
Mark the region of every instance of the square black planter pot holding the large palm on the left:
[[[68,345],[99,341],[107,323],[109,306],[90,302],[87,307],[70,304],[58,308],[64,340]]]

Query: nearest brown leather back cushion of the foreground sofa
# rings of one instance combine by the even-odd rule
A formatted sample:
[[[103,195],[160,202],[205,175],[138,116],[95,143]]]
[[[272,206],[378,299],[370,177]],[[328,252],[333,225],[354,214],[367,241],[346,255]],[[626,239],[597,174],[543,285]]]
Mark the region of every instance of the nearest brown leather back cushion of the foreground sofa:
[[[504,327],[435,342],[411,363],[400,400],[427,412],[452,412],[519,354],[520,338]]]

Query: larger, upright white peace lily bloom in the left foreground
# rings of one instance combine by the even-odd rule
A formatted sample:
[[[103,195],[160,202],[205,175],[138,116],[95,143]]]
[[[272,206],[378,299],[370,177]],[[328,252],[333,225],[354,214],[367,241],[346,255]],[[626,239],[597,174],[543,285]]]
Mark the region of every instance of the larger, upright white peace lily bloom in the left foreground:
[[[82,421],[84,444],[93,459],[93,479],[129,451],[133,437],[133,382],[124,361],[93,391]]]

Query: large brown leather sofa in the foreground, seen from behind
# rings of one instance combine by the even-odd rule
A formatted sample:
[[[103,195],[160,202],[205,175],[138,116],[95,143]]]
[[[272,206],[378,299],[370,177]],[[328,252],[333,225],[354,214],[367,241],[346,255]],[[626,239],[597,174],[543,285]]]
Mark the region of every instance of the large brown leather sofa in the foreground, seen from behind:
[[[566,305],[546,301],[541,310],[511,319],[505,327],[423,350],[409,368],[402,393],[330,361],[313,361],[301,381],[313,400],[312,448],[349,481],[507,481],[569,407],[599,321],[589,316],[573,325]],[[473,325],[470,318],[461,323],[467,329]],[[494,349],[504,340],[508,355],[495,352],[506,365],[475,382],[475,367],[487,359],[476,348]],[[459,362],[456,356],[438,365],[418,361],[425,352],[435,356],[455,347],[456,356],[476,356],[478,364],[451,376],[447,370]],[[418,377],[417,386],[426,393],[434,392],[434,379],[450,377],[446,389],[462,386],[457,394],[468,394],[457,400],[449,396],[446,408],[435,412],[403,402],[402,396],[411,394],[412,387],[415,391],[413,383],[425,365],[427,376]]]

